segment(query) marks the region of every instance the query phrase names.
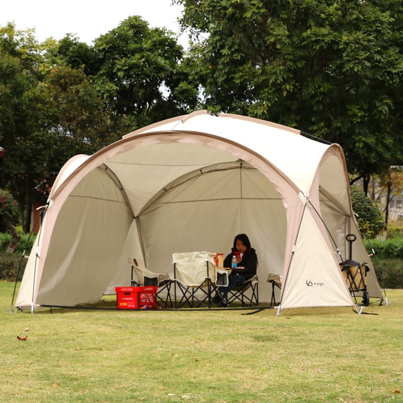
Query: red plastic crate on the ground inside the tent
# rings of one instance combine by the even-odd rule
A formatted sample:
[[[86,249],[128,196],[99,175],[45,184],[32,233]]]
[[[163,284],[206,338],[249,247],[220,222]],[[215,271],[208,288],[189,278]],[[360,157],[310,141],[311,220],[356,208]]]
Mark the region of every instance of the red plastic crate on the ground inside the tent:
[[[116,287],[118,309],[145,309],[157,306],[157,288],[152,287]]]

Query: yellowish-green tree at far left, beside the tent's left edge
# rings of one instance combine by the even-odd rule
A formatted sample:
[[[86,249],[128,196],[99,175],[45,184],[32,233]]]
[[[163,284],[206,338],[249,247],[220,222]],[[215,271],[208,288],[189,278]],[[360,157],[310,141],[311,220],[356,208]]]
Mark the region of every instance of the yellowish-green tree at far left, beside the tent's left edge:
[[[118,136],[90,79],[58,65],[57,43],[38,44],[12,24],[0,33],[0,186],[13,189],[29,232],[32,203],[46,199],[65,161]]]

